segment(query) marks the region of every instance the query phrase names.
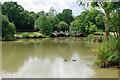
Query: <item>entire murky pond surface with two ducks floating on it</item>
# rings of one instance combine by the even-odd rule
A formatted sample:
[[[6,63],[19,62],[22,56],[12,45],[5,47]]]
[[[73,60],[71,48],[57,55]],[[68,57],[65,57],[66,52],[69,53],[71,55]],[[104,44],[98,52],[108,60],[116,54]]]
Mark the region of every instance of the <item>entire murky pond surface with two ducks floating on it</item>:
[[[117,68],[93,67],[93,45],[84,38],[20,39],[1,44],[4,78],[118,77]]]

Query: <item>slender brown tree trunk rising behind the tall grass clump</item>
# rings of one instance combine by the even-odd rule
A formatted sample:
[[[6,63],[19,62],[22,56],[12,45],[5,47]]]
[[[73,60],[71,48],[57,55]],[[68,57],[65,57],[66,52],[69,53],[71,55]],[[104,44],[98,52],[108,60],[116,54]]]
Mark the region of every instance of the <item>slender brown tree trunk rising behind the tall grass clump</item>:
[[[105,11],[105,39],[109,40],[109,12]]]

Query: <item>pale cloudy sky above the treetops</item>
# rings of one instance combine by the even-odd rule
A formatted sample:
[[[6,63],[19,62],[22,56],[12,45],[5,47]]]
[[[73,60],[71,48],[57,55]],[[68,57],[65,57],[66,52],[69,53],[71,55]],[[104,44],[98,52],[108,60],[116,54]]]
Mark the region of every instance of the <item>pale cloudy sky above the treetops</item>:
[[[36,13],[42,10],[48,12],[51,7],[57,12],[62,12],[63,9],[72,9],[74,16],[84,11],[83,7],[76,3],[76,0],[0,0],[2,3],[5,1],[16,1],[25,10]]]

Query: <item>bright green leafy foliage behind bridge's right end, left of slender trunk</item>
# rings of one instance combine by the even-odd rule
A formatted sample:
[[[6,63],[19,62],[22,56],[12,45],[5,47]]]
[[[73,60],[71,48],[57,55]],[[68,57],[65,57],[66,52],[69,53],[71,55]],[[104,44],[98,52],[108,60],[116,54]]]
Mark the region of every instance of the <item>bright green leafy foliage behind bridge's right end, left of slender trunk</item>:
[[[72,31],[75,31],[75,26],[78,27],[77,31],[86,33],[104,30],[104,15],[95,9],[86,10],[81,15],[75,17],[75,21],[70,25],[71,30],[73,29]]]

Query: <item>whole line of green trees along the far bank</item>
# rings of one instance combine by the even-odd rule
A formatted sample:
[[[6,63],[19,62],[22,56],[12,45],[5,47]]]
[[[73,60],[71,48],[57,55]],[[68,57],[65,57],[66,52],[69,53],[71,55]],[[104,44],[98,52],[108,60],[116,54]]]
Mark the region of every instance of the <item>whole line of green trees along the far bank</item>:
[[[81,2],[79,4],[83,5]],[[102,8],[106,11],[105,14],[92,8],[85,10],[78,16],[74,16],[71,9],[64,9],[61,13],[58,13],[51,7],[47,13],[44,11],[35,13],[25,10],[17,2],[4,2],[2,4],[2,37],[9,34],[9,27],[5,26],[6,23],[7,25],[13,24],[11,26],[15,27],[13,29],[14,33],[16,31],[40,31],[43,35],[50,36],[54,31],[63,30],[88,34],[96,31],[105,31],[106,36],[109,35],[109,31],[119,31],[120,34],[120,27],[118,27],[120,25],[119,3],[106,2],[104,4],[93,2],[91,4],[92,7],[98,7],[99,5],[103,5]],[[119,34],[117,33],[117,37]]]

